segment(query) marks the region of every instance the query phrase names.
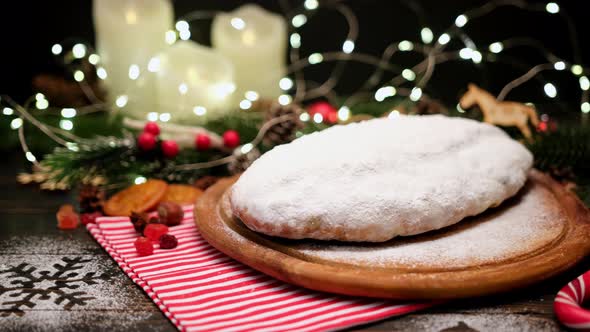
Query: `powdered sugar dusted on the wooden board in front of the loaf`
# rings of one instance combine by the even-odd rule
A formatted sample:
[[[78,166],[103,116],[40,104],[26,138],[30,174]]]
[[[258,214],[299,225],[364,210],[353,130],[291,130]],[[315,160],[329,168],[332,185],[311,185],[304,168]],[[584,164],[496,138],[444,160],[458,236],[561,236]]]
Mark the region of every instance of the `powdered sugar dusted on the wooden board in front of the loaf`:
[[[440,233],[365,246],[326,242],[292,246],[308,258],[333,263],[459,269],[529,254],[549,245],[563,232],[567,217],[546,188],[529,188],[512,203]]]

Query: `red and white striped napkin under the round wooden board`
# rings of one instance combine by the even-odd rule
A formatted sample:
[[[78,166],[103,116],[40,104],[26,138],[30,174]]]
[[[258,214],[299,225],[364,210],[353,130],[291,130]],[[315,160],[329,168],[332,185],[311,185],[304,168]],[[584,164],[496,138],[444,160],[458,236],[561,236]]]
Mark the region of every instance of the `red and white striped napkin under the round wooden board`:
[[[170,227],[175,249],[140,257],[138,234],[127,217],[101,217],[87,228],[127,275],[181,331],[326,331],[366,324],[427,308],[322,293],[253,270],[209,245],[184,207],[184,221]]]

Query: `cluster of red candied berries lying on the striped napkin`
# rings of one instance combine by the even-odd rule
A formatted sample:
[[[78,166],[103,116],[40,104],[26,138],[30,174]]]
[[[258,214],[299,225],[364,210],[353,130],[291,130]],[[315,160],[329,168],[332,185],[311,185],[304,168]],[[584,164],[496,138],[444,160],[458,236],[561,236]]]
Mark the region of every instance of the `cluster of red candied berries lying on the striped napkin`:
[[[136,231],[143,234],[135,240],[135,250],[140,256],[154,253],[153,242],[158,242],[161,249],[174,249],[178,240],[168,234],[168,226],[176,226],[182,222],[184,211],[176,203],[163,202],[158,205],[158,217],[149,217],[147,213],[132,213],[131,222]]]

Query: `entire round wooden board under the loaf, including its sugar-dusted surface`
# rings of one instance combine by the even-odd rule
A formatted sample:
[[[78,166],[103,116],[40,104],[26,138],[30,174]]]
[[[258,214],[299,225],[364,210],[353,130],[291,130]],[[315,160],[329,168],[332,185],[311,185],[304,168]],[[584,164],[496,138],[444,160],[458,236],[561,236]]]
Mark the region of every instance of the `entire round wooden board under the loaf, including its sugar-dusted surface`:
[[[195,220],[202,236],[254,269],[310,289],[392,299],[480,296],[547,279],[590,253],[589,211],[538,171],[498,208],[380,244],[255,233],[231,212],[228,189],[236,180],[219,181],[199,199]]]

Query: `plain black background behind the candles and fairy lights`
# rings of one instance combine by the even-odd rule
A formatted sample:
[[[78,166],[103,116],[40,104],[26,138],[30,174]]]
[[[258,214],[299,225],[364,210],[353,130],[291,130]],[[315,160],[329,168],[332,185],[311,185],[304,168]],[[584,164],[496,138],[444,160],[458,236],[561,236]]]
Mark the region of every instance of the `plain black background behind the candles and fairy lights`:
[[[280,11],[277,1],[253,1],[273,11]],[[303,1],[285,1],[293,8],[301,7]],[[321,1],[320,1],[321,2]],[[360,34],[355,51],[380,55],[391,42],[403,39],[420,41],[420,29],[426,25],[432,29],[435,39],[447,29],[455,17],[462,12],[480,6],[486,1],[434,1],[434,0],[350,0],[350,5],[360,21]],[[231,10],[242,1],[176,0],[176,17],[197,9]],[[327,2],[329,3],[329,1]],[[544,2],[531,2],[544,3]],[[588,29],[587,1],[558,1],[561,11],[568,13],[578,30],[581,44],[582,63],[590,61],[590,29]],[[408,7],[413,6],[420,13]],[[0,93],[13,96],[18,101],[31,95],[31,78],[40,72],[59,72],[50,52],[51,45],[67,38],[93,43],[92,3],[85,0],[67,1],[11,1],[4,4],[0,31],[2,31],[2,52],[0,62]],[[308,20],[302,31],[301,52],[308,55],[318,51],[340,50],[345,38],[344,20],[331,10],[319,10]],[[208,43],[209,22],[191,26],[192,38]],[[528,36],[538,39],[554,54],[567,61],[573,61],[570,36],[565,21],[558,15],[545,12],[530,13],[514,7],[504,7],[484,18],[470,21],[466,32],[479,48],[487,49],[490,43],[513,36]],[[459,49],[455,42],[449,48]],[[520,48],[506,52],[507,56],[532,67],[546,62],[539,52]],[[395,57],[394,62],[407,66],[418,62],[418,55]],[[307,77],[317,81],[325,79],[330,65],[322,64],[306,70]],[[351,65],[337,90],[350,93],[362,84],[369,67]],[[453,62],[438,66],[429,84],[427,93],[449,104],[456,103],[459,94],[468,82],[476,82],[497,94],[510,80],[526,70],[507,64],[493,63],[474,65],[471,61]],[[580,89],[577,78],[569,70],[547,72],[543,78],[558,88],[558,97],[548,99],[542,84],[531,81],[509,94],[508,99],[530,101],[539,104],[558,105],[560,109],[579,112]]]

